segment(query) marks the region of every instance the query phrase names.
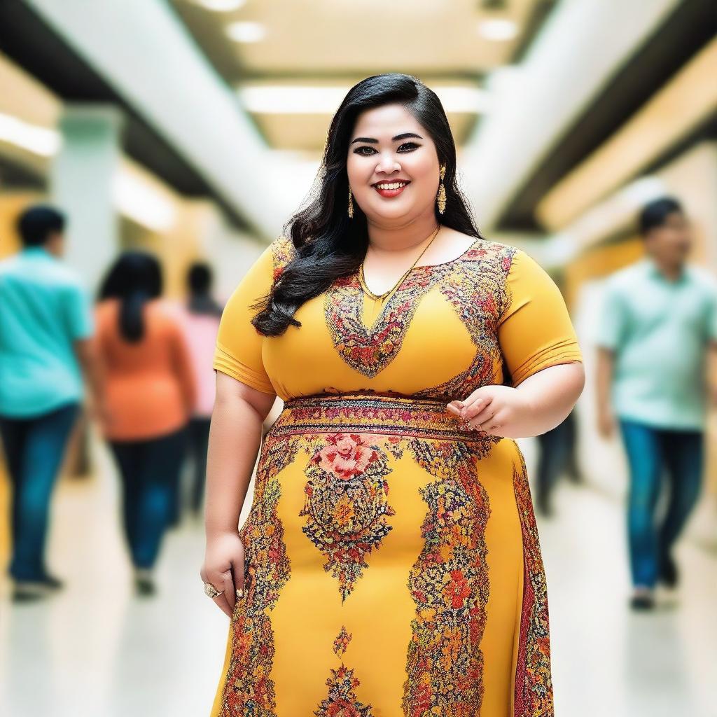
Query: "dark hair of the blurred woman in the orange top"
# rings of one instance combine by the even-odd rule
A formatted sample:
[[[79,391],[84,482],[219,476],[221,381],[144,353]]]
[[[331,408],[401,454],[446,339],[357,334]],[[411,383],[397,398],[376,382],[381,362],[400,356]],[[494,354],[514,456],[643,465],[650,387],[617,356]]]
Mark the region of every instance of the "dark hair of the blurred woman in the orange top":
[[[100,300],[119,299],[120,334],[130,343],[144,336],[143,308],[162,293],[162,270],[146,252],[124,252],[110,267],[100,287]]]

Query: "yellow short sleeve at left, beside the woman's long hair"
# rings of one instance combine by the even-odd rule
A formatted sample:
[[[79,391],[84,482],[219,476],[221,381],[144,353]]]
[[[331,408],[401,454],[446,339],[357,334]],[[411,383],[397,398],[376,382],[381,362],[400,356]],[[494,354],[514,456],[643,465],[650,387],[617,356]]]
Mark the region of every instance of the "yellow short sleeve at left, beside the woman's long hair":
[[[251,320],[257,313],[252,304],[272,287],[275,242],[266,247],[229,297],[219,322],[212,364],[217,371],[267,394],[274,394],[275,390],[262,361],[265,336]]]

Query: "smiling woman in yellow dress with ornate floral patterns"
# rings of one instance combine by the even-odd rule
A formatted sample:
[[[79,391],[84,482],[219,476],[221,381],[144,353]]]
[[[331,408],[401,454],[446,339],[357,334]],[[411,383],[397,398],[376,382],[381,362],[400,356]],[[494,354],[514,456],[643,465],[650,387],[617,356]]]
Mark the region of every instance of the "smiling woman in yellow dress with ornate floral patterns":
[[[317,196],[224,310],[200,571],[231,619],[213,717],[553,714],[513,438],[564,419],[581,353],[554,282],[480,236],[455,174],[434,92],[359,82]]]

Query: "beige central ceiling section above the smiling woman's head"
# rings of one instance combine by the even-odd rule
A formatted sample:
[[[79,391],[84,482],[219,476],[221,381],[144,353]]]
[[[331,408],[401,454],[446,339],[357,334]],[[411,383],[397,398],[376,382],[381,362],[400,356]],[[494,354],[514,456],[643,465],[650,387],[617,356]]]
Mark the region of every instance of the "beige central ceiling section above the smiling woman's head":
[[[239,91],[239,101],[269,146],[319,153],[328,121],[348,89],[369,75],[407,72],[417,75],[441,95],[461,89],[474,93],[489,72],[511,62],[531,27],[540,0],[247,0],[234,11],[212,11],[205,0],[172,0],[191,34],[224,80]],[[216,2],[209,0],[209,4]],[[486,5],[502,5],[489,10]],[[512,39],[489,39],[486,22],[513,24]],[[258,42],[236,42],[227,29],[236,22],[257,23],[264,35]],[[493,26],[495,27],[495,26]],[[498,27],[500,30],[500,27]],[[251,87],[326,88],[331,98],[320,110],[293,112],[273,103],[271,111],[244,102],[241,90]],[[312,90],[316,91],[316,90]],[[469,95],[470,97],[470,95]],[[287,98],[288,99],[288,98]],[[442,98],[443,100],[443,98]],[[445,100],[456,142],[460,146],[483,111],[456,98]]]

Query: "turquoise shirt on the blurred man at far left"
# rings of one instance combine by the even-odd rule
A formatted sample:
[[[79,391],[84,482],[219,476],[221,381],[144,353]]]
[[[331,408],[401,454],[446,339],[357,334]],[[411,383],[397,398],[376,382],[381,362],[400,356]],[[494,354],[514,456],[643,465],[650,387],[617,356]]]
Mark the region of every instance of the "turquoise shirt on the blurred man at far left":
[[[73,342],[92,335],[82,283],[40,247],[0,262],[0,415],[34,417],[82,398]]]

